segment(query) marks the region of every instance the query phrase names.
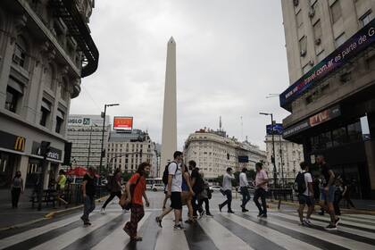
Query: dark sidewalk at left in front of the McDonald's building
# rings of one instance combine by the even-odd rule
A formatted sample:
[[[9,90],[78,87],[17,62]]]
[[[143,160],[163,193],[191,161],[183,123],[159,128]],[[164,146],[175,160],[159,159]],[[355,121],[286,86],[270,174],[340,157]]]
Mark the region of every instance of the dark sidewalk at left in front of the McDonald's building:
[[[69,205],[68,209],[65,206],[59,206],[56,202],[56,207],[53,208],[52,204],[42,204],[42,210],[37,211],[37,205],[35,208],[31,207],[31,202],[29,202],[29,196],[31,194],[31,189],[26,189],[25,193],[20,197],[20,203],[17,209],[12,209],[12,199],[11,191],[9,189],[0,189],[0,231],[4,229],[10,229],[12,227],[21,227],[29,223],[36,221],[47,220],[46,215],[64,212],[72,212],[80,209],[81,204]]]

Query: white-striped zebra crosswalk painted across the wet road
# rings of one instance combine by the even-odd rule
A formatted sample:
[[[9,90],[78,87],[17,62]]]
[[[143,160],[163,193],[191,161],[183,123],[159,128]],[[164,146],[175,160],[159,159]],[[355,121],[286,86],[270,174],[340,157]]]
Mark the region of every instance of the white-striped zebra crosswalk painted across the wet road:
[[[198,238],[202,244],[210,242],[211,245],[208,246],[217,249],[252,250],[259,248],[242,234],[253,235],[255,238],[262,236],[262,242],[265,244],[264,249],[267,248],[267,245],[271,246],[272,244],[284,249],[317,250],[321,249],[321,244],[333,246],[335,249],[375,249],[375,246],[371,245],[375,238],[375,233],[371,232],[372,226],[362,223],[363,220],[372,218],[362,215],[342,216],[343,223],[345,221],[345,224],[353,227],[339,225],[337,233],[331,233],[322,229],[327,225],[328,217],[313,216],[314,219],[323,221],[312,220],[316,227],[308,228],[298,225],[299,219],[295,212],[269,212],[267,219],[258,219],[256,212],[247,212],[246,216],[240,212],[236,214],[216,213],[213,218],[207,217],[199,220],[196,225],[186,225],[186,231],[173,230],[172,214],[164,218],[162,229],[157,228],[153,224],[155,223],[154,216],[157,213],[154,210],[146,211],[145,217],[138,224],[138,229],[141,230],[140,235],[146,234],[148,237],[151,235],[154,238],[153,246],[146,247],[146,249],[202,249],[199,248],[199,242],[196,245],[191,244],[190,241],[193,238]],[[20,234],[5,237],[0,240],[0,248],[12,249],[12,246],[16,246],[14,249],[63,249],[64,247],[76,249],[79,242],[93,240],[90,239],[90,236],[94,234],[95,241],[91,244],[87,243],[90,249],[123,249],[129,244],[129,237],[122,230],[123,221],[129,220],[129,215],[121,216],[121,212],[114,210],[113,212],[108,210],[104,215],[96,214],[92,217],[93,225],[90,227],[83,227],[80,223],[72,224],[79,221],[79,215],[72,216],[37,229],[29,229]],[[346,221],[349,218],[350,221]],[[228,226],[228,223],[232,226]],[[150,227],[150,225],[154,227]],[[70,228],[67,228],[69,226]],[[109,228],[111,231],[105,231]],[[238,232],[238,229],[243,231]],[[103,231],[106,233],[101,236],[100,232]],[[198,237],[196,237],[195,231],[199,231]],[[51,237],[48,237],[49,235]],[[38,237],[38,240],[35,243],[30,242],[34,237]],[[320,245],[314,245],[313,240],[320,241]],[[22,245],[23,242],[25,246]],[[88,249],[87,246],[82,245],[82,248]],[[145,247],[142,248],[145,249]],[[323,248],[328,249],[328,247]]]

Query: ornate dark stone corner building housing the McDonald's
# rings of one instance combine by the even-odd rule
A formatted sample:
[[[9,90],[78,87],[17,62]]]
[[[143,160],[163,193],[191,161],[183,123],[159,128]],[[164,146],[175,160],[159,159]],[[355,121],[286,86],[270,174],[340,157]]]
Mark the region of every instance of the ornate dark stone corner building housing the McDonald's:
[[[94,73],[98,51],[88,29],[93,0],[0,1],[0,187],[15,171],[25,184],[43,170],[45,187],[63,163],[71,98]]]

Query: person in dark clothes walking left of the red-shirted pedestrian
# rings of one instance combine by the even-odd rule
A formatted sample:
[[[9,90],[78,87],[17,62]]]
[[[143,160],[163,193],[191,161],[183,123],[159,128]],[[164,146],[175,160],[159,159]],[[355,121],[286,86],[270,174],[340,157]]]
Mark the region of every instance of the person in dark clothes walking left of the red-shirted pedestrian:
[[[80,219],[85,226],[90,226],[88,215],[95,209],[95,193],[96,193],[96,171],[93,167],[89,167],[87,173],[83,177],[82,193],[83,193],[83,215]]]

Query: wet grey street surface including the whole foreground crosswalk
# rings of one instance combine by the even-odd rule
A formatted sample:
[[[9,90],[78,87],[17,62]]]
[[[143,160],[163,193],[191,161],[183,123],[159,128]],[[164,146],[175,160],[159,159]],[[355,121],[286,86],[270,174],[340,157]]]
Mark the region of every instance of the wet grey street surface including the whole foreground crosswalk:
[[[312,228],[298,225],[296,209],[283,206],[277,211],[271,204],[267,219],[256,217],[253,202],[250,212],[240,212],[239,197],[234,198],[235,214],[217,204],[223,200],[214,193],[211,202],[213,218],[204,216],[195,225],[185,224],[184,231],[172,229],[172,214],[162,221],[160,229],[154,218],[161,210],[162,192],[148,192],[151,202],[145,217],[139,223],[143,241],[129,242],[122,227],[129,221],[129,212],[121,212],[117,200],[107,206],[105,214],[99,212],[101,204],[84,227],[80,212],[42,221],[23,229],[1,234],[0,249],[374,249],[375,216],[346,214],[337,231],[326,231],[329,217],[313,216]],[[184,220],[187,210],[184,208]]]

